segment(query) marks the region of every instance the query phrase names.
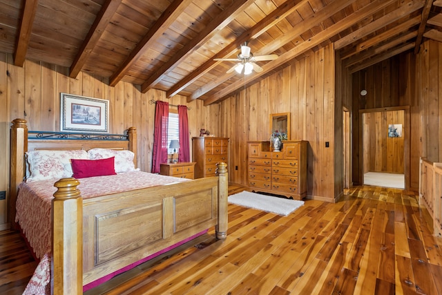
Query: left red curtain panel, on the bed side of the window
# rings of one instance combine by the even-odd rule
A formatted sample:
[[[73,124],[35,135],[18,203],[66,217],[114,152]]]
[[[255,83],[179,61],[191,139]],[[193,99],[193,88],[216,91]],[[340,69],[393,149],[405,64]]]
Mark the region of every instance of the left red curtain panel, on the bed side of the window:
[[[160,173],[160,164],[167,163],[167,128],[169,126],[169,102],[157,101],[153,131],[152,173]]]

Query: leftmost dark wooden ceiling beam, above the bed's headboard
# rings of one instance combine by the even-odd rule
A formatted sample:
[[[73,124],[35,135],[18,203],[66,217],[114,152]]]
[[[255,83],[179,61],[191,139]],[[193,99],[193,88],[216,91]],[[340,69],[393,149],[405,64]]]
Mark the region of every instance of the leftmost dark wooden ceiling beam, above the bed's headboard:
[[[30,35],[32,31],[32,24],[34,23],[35,13],[37,12],[38,0],[26,0],[23,7],[23,17],[19,27],[19,34],[17,35],[17,46],[14,54],[14,65],[23,66],[28,51]]]

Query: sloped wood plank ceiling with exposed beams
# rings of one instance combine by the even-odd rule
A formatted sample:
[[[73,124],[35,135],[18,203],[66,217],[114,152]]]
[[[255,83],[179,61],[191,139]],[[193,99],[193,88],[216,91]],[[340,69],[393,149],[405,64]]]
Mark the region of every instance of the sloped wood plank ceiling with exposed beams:
[[[0,51],[119,81],[220,102],[334,42],[351,72],[442,41],[442,0],[0,0]],[[227,70],[240,44],[262,73]]]

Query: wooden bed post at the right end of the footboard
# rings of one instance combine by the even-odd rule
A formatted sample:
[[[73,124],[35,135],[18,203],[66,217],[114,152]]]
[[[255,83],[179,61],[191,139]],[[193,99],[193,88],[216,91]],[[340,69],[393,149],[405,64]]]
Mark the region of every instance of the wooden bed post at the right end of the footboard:
[[[227,238],[227,198],[229,196],[229,175],[227,164],[220,162],[216,164],[216,174],[218,175],[218,225],[215,227],[216,238]]]

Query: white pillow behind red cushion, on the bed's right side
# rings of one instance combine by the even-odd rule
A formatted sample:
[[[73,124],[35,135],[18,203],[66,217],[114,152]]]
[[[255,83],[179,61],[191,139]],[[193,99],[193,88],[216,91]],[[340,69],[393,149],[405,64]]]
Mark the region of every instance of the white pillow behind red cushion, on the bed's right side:
[[[128,150],[114,150],[114,149],[90,149],[88,151],[90,160],[99,160],[115,157],[115,172],[123,173],[129,171],[137,171],[133,158],[135,154]]]

